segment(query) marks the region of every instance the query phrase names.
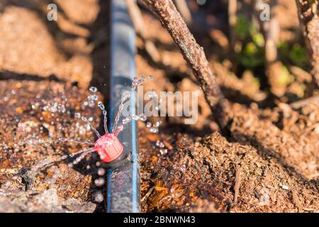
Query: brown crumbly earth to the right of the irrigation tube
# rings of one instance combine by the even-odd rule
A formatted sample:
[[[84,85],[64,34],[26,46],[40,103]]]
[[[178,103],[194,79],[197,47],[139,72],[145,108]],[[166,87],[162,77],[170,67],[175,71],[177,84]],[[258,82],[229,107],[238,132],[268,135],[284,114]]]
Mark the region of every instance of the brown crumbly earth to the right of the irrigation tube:
[[[285,4],[276,9],[280,15],[288,10]],[[159,135],[140,123],[143,211],[318,212],[318,104],[294,109],[272,99],[252,72],[238,78],[228,70],[227,59],[220,64],[218,54],[208,52],[218,83],[233,102],[229,135],[222,136],[169,34],[148,13],[144,19],[164,63],[147,60],[140,46],[138,74],[154,76],[146,89],[198,91],[200,114],[189,126],[183,118],[162,118]],[[296,20],[281,26],[291,35],[288,30],[296,28]],[[157,140],[166,144],[166,155],[155,145]]]

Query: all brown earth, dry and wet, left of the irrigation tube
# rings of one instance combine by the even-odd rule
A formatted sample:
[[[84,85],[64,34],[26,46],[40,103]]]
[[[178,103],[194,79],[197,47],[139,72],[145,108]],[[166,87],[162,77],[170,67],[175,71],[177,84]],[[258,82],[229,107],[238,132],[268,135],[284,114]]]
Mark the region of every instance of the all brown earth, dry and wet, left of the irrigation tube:
[[[74,158],[61,157],[87,145],[58,138],[94,141],[74,114],[99,126],[101,112],[88,106],[88,87],[107,93],[108,4],[54,2],[57,21],[47,21],[51,1],[1,1],[1,211],[103,211],[94,199],[101,189],[94,184],[98,158],[72,166]]]

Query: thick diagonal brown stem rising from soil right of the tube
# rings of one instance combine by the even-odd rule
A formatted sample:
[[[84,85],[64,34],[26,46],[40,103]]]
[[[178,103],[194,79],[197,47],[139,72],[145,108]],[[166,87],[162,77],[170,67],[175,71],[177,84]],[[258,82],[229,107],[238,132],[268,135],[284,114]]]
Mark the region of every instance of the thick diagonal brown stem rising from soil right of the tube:
[[[216,118],[220,129],[225,132],[230,121],[228,101],[218,86],[213,71],[209,67],[203,48],[201,48],[194,36],[187,28],[184,19],[177,11],[172,0],[141,0],[155,15],[159,17],[162,26],[172,36],[177,47],[181,50],[184,60],[198,79],[203,89],[208,105]]]

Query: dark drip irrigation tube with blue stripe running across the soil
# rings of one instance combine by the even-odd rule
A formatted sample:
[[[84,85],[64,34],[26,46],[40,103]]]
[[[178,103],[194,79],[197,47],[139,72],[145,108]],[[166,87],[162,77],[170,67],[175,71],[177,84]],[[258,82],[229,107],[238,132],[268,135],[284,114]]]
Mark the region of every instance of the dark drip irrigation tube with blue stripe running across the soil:
[[[135,77],[135,31],[128,15],[125,0],[111,0],[111,102],[110,129],[118,111],[123,92],[131,92]],[[130,101],[135,106],[135,93]],[[130,109],[135,114],[135,109]],[[109,169],[107,176],[106,211],[140,212],[140,168],[136,122],[131,121],[118,135],[124,145],[124,153],[130,153],[131,161],[123,167]]]

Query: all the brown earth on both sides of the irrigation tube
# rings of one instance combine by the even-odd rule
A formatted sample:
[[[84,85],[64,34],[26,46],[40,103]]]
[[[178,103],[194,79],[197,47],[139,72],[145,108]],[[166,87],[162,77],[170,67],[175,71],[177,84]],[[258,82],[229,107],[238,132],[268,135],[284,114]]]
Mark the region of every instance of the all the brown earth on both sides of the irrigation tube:
[[[57,132],[67,138],[94,139],[89,132],[80,133],[74,110],[93,116],[94,126],[99,125],[99,112],[82,104],[89,84],[107,90],[108,8],[96,0],[55,2],[62,9],[57,23],[46,20],[48,1],[8,0],[0,5],[0,204],[9,204],[12,211],[95,208],[96,167],[92,163],[96,160],[91,157],[77,167],[68,165],[71,160],[55,162],[82,146],[54,141]],[[281,38],[296,40],[298,34],[295,37],[291,30],[298,29],[298,20],[286,3],[276,9],[283,28]],[[282,16],[287,14],[292,19]],[[288,99],[274,98],[265,84],[256,82],[258,74],[230,72],[233,62],[223,47],[209,34],[196,33],[232,103],[229,133],[220,135],[203,93],[169,34],[150,13],[143,16],[162,56],[161,64],[156,64],[138,45],[137,74],[154,77],[147,80],[145,90],[198,91],[199,118],[194,125],[185,125],[183,118],[162,118],[158,134],[139,123],[142,211],[318,212],[318,103],[295,108],[284,102]],[[214,16],[207,20],[210,29],[220,31],[217,40],[225,40],[226,22]],[[297,89],[290,87],[285,95],[298,92],[302,81],[297,78]],[[41,99],[64,104],[69,113],[51,116],[41,111],[45,106]],[[52,125],[53,118],[60,122]],[[19,145],[21,140],[31,142]],[[166,155],[159,152],[157,140],[164,142]],[[46,198],[55,202],[43,205]],[[103,204],[97,211],[103,211]]]

